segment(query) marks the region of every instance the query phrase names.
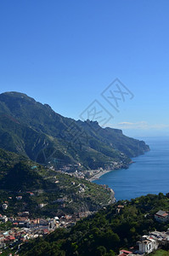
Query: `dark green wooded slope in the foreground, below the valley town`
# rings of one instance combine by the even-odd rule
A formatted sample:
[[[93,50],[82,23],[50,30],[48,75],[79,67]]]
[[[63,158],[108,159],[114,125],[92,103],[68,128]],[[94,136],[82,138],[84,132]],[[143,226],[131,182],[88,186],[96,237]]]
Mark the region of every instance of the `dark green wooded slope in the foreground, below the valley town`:
[[[118,204],[125,207],[115,213]],[[167,195],[146,195],[119,201],[90,218],[77,222],[70,230],[55,230],[46,238],[26,243],[20,255],[114,255],[121,247],[131,247],[149,230],[166,230],[169,225],[155,222],[158,210],[169,210]]]

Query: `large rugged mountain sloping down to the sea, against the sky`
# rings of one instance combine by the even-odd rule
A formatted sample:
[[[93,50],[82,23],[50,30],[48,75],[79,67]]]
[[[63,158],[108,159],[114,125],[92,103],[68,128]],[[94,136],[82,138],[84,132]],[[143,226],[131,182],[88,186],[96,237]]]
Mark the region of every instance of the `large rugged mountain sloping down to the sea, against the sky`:
[[[149,150],[121,130],[65,118],[19,92],[0,95],[0,148],[55,168],[78,165],[81,170],[112,168],[114,162],[127,167],[131,157]]]

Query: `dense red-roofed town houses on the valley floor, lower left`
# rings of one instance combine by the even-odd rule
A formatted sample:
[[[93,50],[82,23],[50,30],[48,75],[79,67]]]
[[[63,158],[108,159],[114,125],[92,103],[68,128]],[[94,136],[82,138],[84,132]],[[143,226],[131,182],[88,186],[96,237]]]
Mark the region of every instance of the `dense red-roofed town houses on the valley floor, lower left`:
[[[63,215],[60,218],[29,218],[29,212],[19,212],[18,217],[7,217],[0,214],[0,223],[7,221],[13,224],[11,230],[0,231],[0,248],[13,247],[15,244],[37,238],[37,236],[46,236],[59,227],[70,227],[76,224],[81,218],[91,215],[92,212],[79,212],[76,215]]]

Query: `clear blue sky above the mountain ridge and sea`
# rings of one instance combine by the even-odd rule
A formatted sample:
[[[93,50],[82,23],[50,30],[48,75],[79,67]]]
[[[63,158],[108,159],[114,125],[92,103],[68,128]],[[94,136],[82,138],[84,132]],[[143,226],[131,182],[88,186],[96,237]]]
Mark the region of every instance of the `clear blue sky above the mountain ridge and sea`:
[[[169,136],[168,12],[168,0],[1,1],[0,93],[74,119],[97,100],[114,117],[105,125]],[[101,96],[115,78],[133,94],[119,113]]]

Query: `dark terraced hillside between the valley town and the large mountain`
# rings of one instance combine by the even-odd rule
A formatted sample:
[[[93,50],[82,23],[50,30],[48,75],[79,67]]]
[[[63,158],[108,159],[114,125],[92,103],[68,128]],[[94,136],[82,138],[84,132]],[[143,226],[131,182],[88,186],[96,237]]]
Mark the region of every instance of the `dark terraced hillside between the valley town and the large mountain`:
[[[64,212],[93,212],[114,200],[109,189],[52,171],[3,149],[0,165],[0,205],[8,202],[8,209],[0,207],[1,214],[29,211],[31,217],[54,217]],[[21,200],[16,198],[19,195]],[[40,204],[44,207],[40,208]]]

